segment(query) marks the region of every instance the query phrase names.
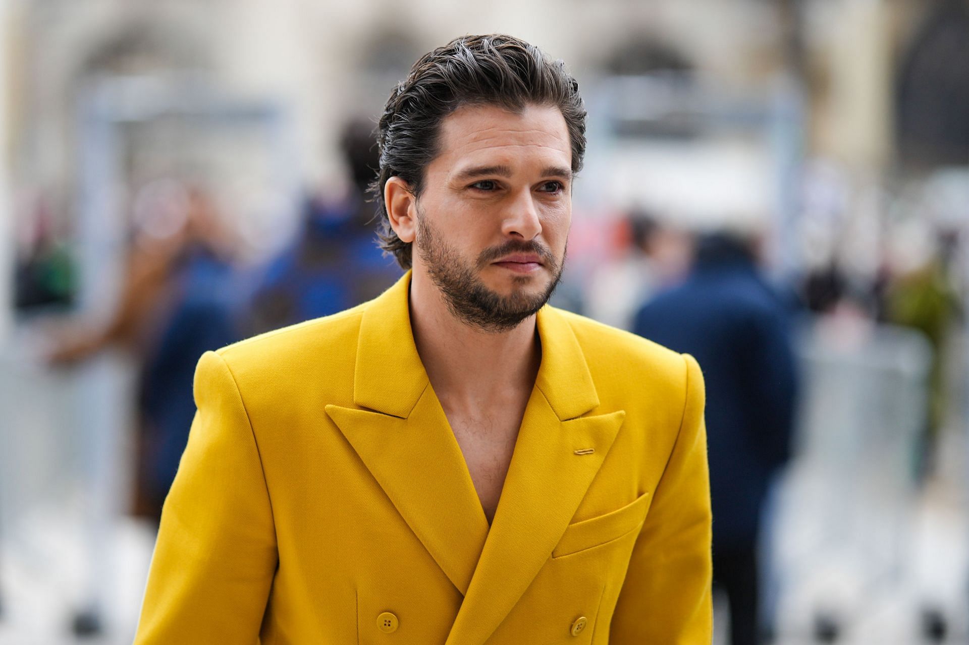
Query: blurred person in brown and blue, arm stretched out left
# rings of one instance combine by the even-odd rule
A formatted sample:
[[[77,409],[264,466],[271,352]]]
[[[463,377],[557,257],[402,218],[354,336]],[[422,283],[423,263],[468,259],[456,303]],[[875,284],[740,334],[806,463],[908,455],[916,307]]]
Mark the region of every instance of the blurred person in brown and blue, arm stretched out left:
[[[67,365],[120,347],[138,360],[135,510],[157,522],[195,415],[191,385],[198,357],[239,334],[231,242],[208,196],[179,182],[156,181],[141,189],[134,220],[113,315],[99,327],[62,328],[48,358]]]

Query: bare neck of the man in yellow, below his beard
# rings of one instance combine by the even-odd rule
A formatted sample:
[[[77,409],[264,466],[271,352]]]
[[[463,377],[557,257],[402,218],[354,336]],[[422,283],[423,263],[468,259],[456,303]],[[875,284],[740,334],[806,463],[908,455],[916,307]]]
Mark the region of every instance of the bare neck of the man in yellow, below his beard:
[[[461,408],[505,399],[510,388],[527,398],[542,358],[535,316],[485,331],[457,319],[426,276],[412,278],[409,302],[414,342],[439,397]]]

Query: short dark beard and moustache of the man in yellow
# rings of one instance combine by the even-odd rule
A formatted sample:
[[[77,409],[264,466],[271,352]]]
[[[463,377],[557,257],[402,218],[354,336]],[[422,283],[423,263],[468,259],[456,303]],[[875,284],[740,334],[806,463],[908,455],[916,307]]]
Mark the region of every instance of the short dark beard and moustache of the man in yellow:
[[[445,304],[454,318],[488,333],[508,331],[538,313],[558,287],[565,264],[565,252],[562,253],[562,260],[556,261],[545,244],[534,240],[513,239],[485,249],[472,265],[442,239],[423,213],[419,213],[418,217],[415,246],[427,265],[431,281],[444,295]],[[485,287],[478,272],[490,262],[510,253],[538,254],[552,275],[552,280],[544,291],[525,291],[526,286],[534,280],[528,276],[513,277],[512,292],[508,295],[501,295]]]

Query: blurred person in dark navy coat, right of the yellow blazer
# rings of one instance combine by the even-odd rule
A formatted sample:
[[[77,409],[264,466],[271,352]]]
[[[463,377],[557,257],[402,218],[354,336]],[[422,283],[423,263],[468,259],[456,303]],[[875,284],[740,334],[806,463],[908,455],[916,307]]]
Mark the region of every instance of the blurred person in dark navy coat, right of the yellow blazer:
[[[759,642],[761,514],[791,449],[797,387],[787,309],[746,241],[708,233],[686,281],[645,304],[634,330],[703,365],[713,584],[730,604],[730,642],[752,645]]]

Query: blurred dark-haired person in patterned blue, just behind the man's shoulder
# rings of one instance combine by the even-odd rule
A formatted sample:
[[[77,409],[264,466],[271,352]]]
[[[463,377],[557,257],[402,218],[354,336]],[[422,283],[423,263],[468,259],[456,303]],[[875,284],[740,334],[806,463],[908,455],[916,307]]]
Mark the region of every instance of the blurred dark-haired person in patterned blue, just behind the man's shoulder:
[[[245,315],[257,334],[328,316],[370,300],[400,277],[373,235],[373,204],[366,199],[379,164],[373,124],[347,124],[340,147],[351,186],[340,200],[307,200],[296,239],[266,266]]]

